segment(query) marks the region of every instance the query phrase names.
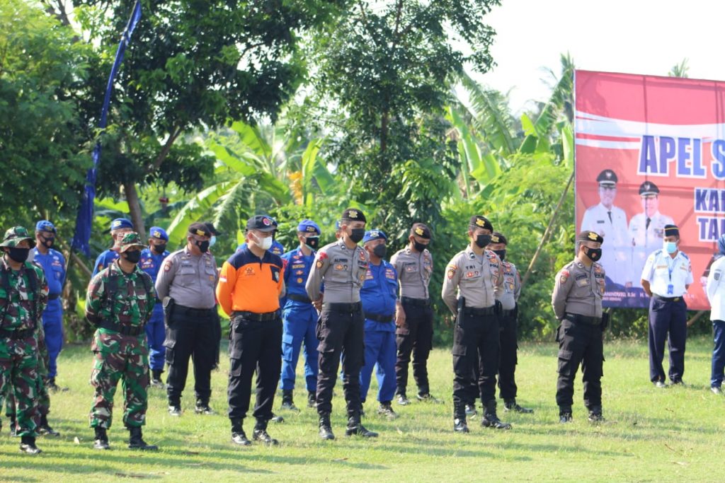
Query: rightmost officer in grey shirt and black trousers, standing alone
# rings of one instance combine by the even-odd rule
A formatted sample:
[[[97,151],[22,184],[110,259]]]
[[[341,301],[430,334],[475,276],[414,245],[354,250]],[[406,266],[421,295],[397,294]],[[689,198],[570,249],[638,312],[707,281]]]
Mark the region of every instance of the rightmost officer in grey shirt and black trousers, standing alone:
[[[605,292],[604,268],[597,264],[602,258],[602,238],[597,232],[584,231],[576,236],[576,258],[556,275],[551,303],[559,319],[556,340],[559,343],[559,377],[556,403],[559,421],[571,421],[574,377],[581,363],[584,382],[584,404],[589,421],[602,421],[602,336],[608,314],[602,317],[602,296]]]

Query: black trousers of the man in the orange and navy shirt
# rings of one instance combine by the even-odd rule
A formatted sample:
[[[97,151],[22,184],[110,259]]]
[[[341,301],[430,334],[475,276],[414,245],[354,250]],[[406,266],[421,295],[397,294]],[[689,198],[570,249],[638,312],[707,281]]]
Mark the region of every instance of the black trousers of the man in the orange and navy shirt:
[[[254,417],[272,419],[274,392],[282,369],[282,319],[264,322],[233,316],[229,332],[229,419],[244,419],[257,371]]]

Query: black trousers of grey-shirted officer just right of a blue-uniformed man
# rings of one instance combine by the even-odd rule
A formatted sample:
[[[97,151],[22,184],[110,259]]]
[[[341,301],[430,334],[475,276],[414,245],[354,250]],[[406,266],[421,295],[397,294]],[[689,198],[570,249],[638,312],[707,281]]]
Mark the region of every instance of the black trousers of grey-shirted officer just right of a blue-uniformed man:
[[[398,346],[395,362],[397,393],[405,395],[407,388],[408,365],[413,353],[413,379],[418,385],[418,394],[428,394],[428,355],[433,347],[433,308],[403,304],[405,324],[395,329],[395,342]]]

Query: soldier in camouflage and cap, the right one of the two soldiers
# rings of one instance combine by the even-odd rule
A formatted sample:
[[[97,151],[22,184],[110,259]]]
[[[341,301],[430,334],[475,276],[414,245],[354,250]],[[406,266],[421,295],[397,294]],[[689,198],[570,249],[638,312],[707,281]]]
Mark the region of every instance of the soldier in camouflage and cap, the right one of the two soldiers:
[[[86,319],[98,328],[91,345],[91,385],[96,394],[90,416],[96,432],[94,448],[98,450],[109,449],[106,430],[111,427],[113,395],[119,379],[123,379],[125,392],[123,423],[130,432],[128,448],[158,449],[147,445],[141,435],[149,387],[145,326],[156,303],[151,277],[138,267],[144,246],[138,233],[128,232],[120,242],[120,257],[88,284]]]

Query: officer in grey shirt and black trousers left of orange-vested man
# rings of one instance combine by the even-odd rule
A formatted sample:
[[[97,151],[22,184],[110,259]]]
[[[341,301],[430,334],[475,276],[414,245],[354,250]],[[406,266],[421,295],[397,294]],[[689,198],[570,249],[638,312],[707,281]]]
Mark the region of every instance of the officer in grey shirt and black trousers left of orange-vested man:
[[[156,291],[164,301],[166,316],[166,362],[169,365],[167,396],[169,413],[181,416],[181,392],[186,385],[188,358],[194,360],[194,392],[197,414],[213,414],[212,367],[215,363],[218,324],[215,287],[217,262],[209,253],[212,234],[204,223],[192,223],[186,247],[164,260],[156,279]]]

